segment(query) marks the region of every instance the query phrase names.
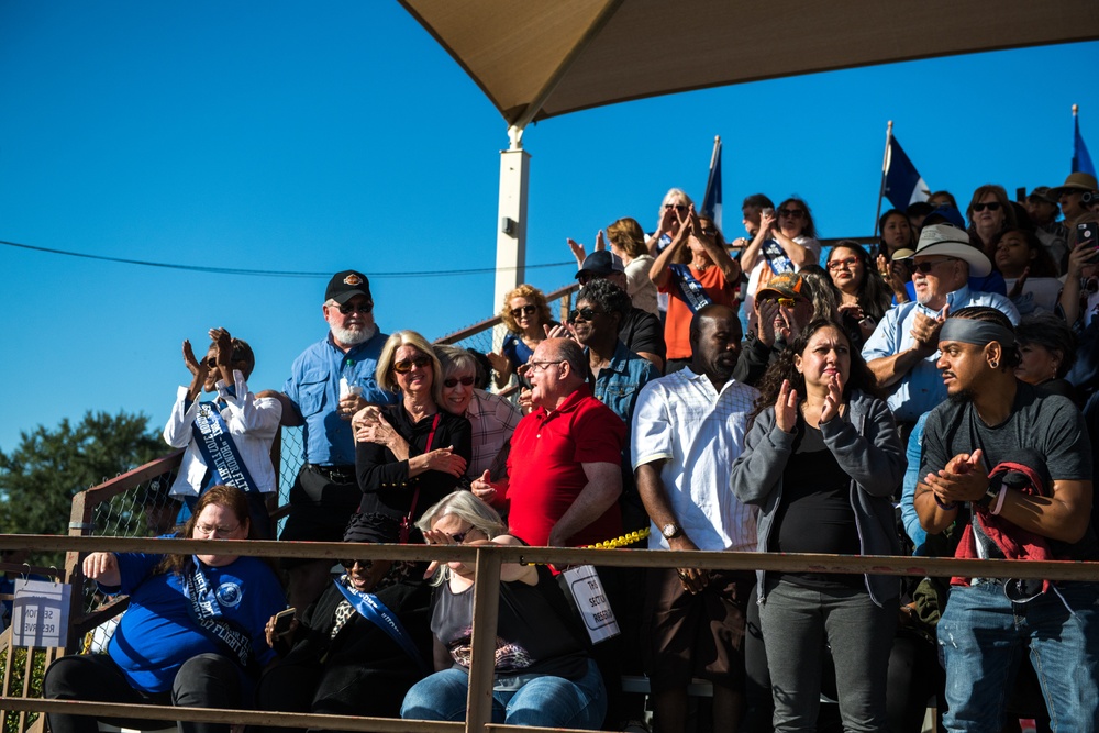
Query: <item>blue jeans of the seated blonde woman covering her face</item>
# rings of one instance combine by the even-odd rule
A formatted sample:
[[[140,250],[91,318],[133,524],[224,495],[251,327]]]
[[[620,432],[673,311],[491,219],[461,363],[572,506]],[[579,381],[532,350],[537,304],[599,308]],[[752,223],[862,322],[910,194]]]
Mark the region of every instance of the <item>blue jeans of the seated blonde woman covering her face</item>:
[[[417,682],[404,696],[406,720],[464,721],[469,675],[464,669],[444,669]],[[577,681],[550,675],[530,680],[515,690],[492,692],[492,722],[539,728],[598,730],[607,713],[607,690],[595,662]]]

